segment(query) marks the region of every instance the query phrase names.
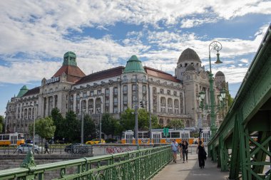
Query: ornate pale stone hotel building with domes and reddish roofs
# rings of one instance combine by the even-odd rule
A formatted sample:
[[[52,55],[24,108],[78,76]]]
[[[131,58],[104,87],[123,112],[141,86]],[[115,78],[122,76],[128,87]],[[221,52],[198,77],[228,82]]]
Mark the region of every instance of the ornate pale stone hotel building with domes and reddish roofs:
[[[128,107],[143,101],[145,109],[158,116],[160,125],[170,120],[183,120],[185,127],[210,127],[208,111],[199,108],[199,92],[205,91],[205,102],[210,104],[208,71],[200,58],[190,48],[178,59],[175,76],[155,68],[143,67],[136,55],[126,66],[119,66],[85,75],[77,66],[76,54],[67,52],[63,65],[41,86],[29,90],[24,87],[6,105],[6,132],[24,132],[28,135],[29,124],[51,114],[57,107],[65,117],[72,110],[79,116],[91,115],[98,121],[101,113],[119,118]],[[218,71],[214,78],[215,101],[220,90],[228,90],[225,75]],[[138,98],[136,98],[138,97]],[[141,107],[140,107],[141,108]],[[217,125],[223,119],[217,115]]]

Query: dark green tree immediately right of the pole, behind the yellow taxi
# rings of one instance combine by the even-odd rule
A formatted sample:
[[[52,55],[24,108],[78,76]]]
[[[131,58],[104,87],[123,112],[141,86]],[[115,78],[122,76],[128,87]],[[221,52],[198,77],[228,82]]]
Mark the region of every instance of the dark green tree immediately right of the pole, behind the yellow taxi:
[[[80,125],[81,127],[81,125]],[[86,142],[96,137],[95,123],[90,115],[83,117],[83,141]]]

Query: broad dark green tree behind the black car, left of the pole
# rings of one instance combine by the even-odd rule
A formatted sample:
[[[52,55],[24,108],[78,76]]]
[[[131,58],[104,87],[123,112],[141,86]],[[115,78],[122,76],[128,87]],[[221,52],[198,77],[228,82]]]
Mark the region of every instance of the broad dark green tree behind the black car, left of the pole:
[[[73,111],[66,113],[66,118],[62,123],[61,131],[65,142],[80,142],[81,126],[78,122],[76,114]]]

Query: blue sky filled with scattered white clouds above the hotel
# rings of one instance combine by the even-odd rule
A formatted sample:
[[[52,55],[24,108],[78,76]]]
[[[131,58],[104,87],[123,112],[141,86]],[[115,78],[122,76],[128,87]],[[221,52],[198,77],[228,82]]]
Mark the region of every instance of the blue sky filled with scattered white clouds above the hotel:
[[[23,85],[35,88],[73,51],[84,73],[126,65],[135,54],[174,75],[193,48],[208,70],[220,41],[221,65],[235,96],[271,22],[271,1],[0,1],[0,115]],[[215,60],[215,52],[211,55]]]

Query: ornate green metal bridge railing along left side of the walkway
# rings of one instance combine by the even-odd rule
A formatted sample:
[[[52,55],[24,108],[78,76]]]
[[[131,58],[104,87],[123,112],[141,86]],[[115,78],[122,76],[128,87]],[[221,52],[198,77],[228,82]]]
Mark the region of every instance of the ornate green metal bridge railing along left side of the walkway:
[[[150,179],[172,160],[170,146],[36,165],[32,152],[21,167],[0,171],[2,179]]]

